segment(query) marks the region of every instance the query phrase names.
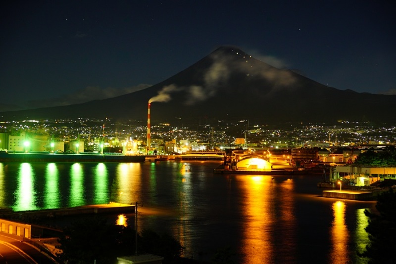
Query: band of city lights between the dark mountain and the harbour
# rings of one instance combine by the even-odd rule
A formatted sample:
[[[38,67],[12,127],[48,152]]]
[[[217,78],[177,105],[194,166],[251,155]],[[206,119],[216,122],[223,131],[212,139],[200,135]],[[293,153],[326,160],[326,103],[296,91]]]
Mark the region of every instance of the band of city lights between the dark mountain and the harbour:
[[[123,142],[133,142],[140,154],[185,153],[188,150],[227,148],[282,149],[301,147],[373,147],[396,142],[396,127],[374,127],[370,123],[253,125],[247,120],[219,120],[200,126],[170,123],[151,126],[151,145],[147,153],[147,125],[144,122],[116,122],[111,119],[59,119],[2,122],[0,148],[25,151],[117,152]],[[51,145],[52,143],[52,145]],[[53,145],[55,144],[55,145]],[[171,147],[169,147],[171,146]]]

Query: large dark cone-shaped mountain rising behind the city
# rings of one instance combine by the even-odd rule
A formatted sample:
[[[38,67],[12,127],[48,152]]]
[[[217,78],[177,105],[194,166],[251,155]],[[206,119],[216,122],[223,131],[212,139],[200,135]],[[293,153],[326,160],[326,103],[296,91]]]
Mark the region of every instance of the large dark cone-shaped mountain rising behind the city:
[[[321,85],[275,68],[239,48],[221,46],[149,88],[78,105],[2,112],[3,120],[105,118],[185,123],[200,117],[283,122],[396,121],[396,95],[358,93]]]

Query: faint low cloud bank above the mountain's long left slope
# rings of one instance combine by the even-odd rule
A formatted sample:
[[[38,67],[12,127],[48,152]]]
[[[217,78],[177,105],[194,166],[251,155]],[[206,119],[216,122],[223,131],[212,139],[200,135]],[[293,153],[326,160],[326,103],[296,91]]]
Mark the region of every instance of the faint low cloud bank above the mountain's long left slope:
[[[31,100],[27,102],[26,108],[42,108],[52,106],[65,106],[71,104],[85,103],[93,100],[101,100],[120,96],[123,94],[135,92],[150,87],[148,84],[140,84],[134,87],[126,88],[100,88],[89,86],[84,89],[78,90],[71,94],[65,94],[62,97],[52,99]]]

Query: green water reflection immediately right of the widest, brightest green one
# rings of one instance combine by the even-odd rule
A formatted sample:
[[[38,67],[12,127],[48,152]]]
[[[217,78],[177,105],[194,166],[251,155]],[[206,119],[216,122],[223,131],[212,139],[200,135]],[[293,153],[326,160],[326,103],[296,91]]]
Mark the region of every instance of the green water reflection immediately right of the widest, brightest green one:
[[[55,163],[47,164],[44,193],[44,208],[59,208],[59,172]]]

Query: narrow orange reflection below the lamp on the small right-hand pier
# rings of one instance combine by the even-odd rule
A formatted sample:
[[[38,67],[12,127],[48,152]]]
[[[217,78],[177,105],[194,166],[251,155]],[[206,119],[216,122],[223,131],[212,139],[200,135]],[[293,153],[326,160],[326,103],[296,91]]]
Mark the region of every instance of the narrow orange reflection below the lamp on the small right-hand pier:
[[[331,263],[344,264],[348,263],[348,230],[345,224],[346,204],[342,201],[337,201],[333,204],[334,221],[331,230],[331,239],[333,248],[331,252]]]

